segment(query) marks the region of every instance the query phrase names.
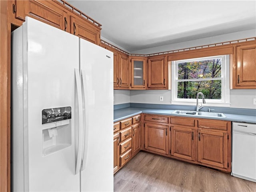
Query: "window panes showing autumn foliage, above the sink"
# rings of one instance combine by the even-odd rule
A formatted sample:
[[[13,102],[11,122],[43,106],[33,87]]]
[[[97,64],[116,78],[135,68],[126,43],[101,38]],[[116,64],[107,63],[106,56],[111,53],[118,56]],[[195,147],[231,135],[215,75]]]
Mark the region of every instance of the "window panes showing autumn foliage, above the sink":
[[[222,99],[221,58],[178,62],[177,98]]]

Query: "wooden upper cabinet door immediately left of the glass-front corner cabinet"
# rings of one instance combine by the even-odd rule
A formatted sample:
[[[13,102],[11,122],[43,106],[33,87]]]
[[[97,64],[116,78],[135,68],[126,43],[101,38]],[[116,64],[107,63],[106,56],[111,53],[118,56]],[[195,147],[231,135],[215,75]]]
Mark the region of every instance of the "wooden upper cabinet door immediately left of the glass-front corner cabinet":
[[[119,54],[119,89],[129,89],[129,56]]]

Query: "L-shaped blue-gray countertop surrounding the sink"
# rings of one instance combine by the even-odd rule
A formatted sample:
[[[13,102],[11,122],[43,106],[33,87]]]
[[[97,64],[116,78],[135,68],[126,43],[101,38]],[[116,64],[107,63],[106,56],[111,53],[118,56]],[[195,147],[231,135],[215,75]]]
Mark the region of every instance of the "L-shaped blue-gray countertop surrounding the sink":
[[[179,109],[177,109],[179,110]],[[181,115],[172,114],[174,110],[168,109],[154,109],[154,108],[137,108],[137,107],[127,107],[114,110],[114,122],[132,117],[140,113],[148,114],[158,114],[158,115],[171,115],[171,116],[182,116],[182,117],[194,117],[194,118],[204,118],[204,119],[216,119],[216,120],[227,120],[234,122],[246,122],[246,123],[256,123],[256,115],[244,115],[244,114],[226,114],[226,118],[221,117],[205,117],[205,116],[193,116],[193,115]]]

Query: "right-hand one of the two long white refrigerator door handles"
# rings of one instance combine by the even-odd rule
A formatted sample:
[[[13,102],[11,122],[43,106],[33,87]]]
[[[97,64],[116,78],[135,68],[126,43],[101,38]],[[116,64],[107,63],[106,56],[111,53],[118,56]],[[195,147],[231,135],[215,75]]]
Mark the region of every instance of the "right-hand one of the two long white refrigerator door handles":
[[[87,92],[86,92],[86,74],[85,74],[85,70],[81,70],[81,74],[82,74],[82,90],[84,91],[84,113],[86,113],[86,109],[85,109],[85,102],[87,101]],[[85,118],[86,115],[84,115]],[[82,168],[81,170],[84,170],[86,167],[86,158],[87,158],[87,153],[88,153],[88,127],[86,128],[86,120],[84,119],[84,147],[83,147],[83,153],[82,153]]]

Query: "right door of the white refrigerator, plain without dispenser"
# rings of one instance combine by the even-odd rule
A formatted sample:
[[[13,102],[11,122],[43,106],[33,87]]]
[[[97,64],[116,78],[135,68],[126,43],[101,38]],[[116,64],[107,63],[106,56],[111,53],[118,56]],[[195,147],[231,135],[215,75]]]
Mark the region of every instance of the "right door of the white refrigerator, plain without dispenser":
[[[80,39],[85,137],[81,191],[113,191],[113,53]]]

